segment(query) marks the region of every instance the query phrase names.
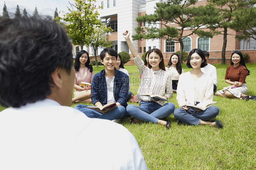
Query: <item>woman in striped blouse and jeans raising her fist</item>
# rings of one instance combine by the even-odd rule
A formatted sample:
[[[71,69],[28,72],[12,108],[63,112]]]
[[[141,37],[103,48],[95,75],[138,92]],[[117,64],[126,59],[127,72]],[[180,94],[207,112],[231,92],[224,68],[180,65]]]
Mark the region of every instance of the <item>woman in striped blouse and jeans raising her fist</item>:
[[[144,65],[143,60],[136,52],[129,38],[130,32],[124,31],[123,36],[126,39],[127,45],[132,53],[135,64],[141,73],[141,83],[138,89],[140,93],[158,94],[168,99],[172,95],[171,75],[165,71],[163,55],[159,49],[152,49],[148,53],[148,67]],[[166,90],[166,92],[165,92]],[[141,121],[158,123],[171,127],[169,121],[160,120],[161,118],[171,115],[174,111],[174,104],[171,102],[164,103],[163,100],[152,99],[150,97],[138,96],[140,106],[129,104],[126,107],[127,112],[133,116],[130,123],[138,123]]]

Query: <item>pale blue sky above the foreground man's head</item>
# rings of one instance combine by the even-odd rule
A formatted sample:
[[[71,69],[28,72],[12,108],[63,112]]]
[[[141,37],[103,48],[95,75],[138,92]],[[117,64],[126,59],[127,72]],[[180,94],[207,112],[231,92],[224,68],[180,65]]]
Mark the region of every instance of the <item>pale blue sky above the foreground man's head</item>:
[[[68,0],[0,0],[0,14],[3,14],[4,1],[7,6],[7,11],[15,14],[17,4],[19,5],[21,14],[23,9],[29,15],[33,15],[35,7],[38,9],[39,15],[50,15],[52,18],[54,16],[55,8],[57,7],[60,11],[59,16],[62,16],[62,11],[67,12],[67,6],[69,6]],[[72,3],[72,0],[69,0]]]

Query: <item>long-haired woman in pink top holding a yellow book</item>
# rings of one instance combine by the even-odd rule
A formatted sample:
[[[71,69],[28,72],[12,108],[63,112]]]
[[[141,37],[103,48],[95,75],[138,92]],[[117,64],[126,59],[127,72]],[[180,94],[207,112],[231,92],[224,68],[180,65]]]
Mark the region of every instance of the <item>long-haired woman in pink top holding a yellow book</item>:
[[[85,50],[79,51],[75,59],[75,82],[73,102],[91,103],[91,85],[81,87],[81,82],[91,83],[94,76],[93,67],[90,65],[90,58]]]

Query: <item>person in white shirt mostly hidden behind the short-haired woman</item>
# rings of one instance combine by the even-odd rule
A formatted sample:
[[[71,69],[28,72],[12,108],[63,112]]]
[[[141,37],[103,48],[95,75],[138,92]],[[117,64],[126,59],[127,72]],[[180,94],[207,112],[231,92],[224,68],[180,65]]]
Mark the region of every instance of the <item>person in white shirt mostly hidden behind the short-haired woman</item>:
[[[209,60],[209,56],[210,53],[208,51],[203,51],[204,55],[205,55],[205,59],[206,59],[206,66],[201,68],[201,71],[209,76],[212,77],[213,79],[213,91],[215,91],[217,89],[217,71],[216,71],[216,67],[214,67],[213,65],[208,63]]]

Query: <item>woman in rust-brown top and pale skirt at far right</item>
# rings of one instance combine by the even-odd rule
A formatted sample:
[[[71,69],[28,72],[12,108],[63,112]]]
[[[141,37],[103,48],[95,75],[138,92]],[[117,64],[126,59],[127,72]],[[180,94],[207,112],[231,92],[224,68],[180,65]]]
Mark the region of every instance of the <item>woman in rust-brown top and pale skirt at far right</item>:
[[[255,96],[245,95],[247,92],[245,79],[247,75],[250,75],[249,73],[250,71],[245,66],[242,53],[240,51],[233,52],[231,55],[230,65],[227,67],[225,75],[225,82],[230,85],[224,87],[223,90],[218,90],[216,95],[245,100],[249,100],[249,98],[256,98]]]

